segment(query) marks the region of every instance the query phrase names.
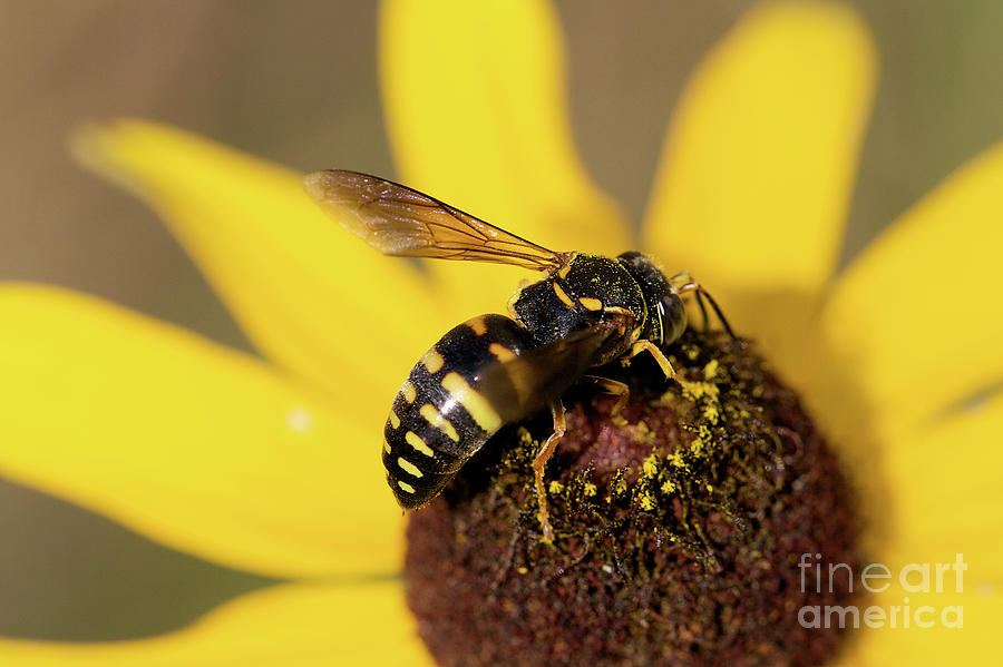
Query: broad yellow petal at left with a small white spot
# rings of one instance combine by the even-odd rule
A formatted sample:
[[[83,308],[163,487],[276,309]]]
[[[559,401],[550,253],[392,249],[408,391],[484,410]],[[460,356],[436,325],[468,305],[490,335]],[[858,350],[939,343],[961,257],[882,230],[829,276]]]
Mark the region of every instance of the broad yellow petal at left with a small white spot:
[[[0,322],[0,474],[232,567],[399,567],[374,412],[70,292],[4,286]]]

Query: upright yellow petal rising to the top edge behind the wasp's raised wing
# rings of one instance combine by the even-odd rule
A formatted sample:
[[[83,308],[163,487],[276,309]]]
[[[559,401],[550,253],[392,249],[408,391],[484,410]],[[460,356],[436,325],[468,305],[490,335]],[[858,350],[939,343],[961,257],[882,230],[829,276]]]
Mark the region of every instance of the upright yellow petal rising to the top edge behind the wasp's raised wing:
[[[555,251],[629,249],[620,214],[574,147],[549,4],[390,0],[380,57],[388,133],[407,185]],[[435,271],[458,291],[454,318],[497,311],[533,277],[446,262]]]

